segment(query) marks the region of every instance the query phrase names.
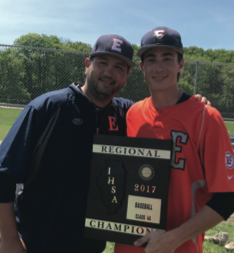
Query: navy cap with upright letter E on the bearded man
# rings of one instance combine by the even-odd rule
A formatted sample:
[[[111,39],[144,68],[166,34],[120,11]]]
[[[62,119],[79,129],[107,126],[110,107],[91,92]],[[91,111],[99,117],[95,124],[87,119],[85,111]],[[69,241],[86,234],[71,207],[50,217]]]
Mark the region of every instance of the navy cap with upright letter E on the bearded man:
[[[135,67],[132,61],[133,47],[124,37],[116,34],[102,35],[93,46],[90,58],[93,56],[108,54],[123,59],[130,68]]]

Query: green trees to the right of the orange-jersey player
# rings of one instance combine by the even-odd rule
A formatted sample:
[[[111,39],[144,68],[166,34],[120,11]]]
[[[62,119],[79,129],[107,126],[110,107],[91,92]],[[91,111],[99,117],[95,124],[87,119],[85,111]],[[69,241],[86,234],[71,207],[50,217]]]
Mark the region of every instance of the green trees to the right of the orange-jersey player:
[[[185,60],[198,63],[197,86],[195,85],[196,62],[186,62],[179,87],[187,93],[206,96],[224,118],[234,118],[234,65],[206,62],[234,63],[234,50],[184,48]],[[199,61],[199,62],[198,62]]]

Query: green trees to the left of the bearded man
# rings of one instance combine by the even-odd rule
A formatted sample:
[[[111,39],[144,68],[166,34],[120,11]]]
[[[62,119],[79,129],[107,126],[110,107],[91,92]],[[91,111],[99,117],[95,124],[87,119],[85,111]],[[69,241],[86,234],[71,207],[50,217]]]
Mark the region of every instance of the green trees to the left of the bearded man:
[[[27,104],[45,92],[67,87],[72,82],[84,82],[84,60],[89,56],[90,45],[69,40],[63,43],[57,36],[35,33],[22,35],[14,41],[14,45],[38,49],[0,51],[0,102]]]

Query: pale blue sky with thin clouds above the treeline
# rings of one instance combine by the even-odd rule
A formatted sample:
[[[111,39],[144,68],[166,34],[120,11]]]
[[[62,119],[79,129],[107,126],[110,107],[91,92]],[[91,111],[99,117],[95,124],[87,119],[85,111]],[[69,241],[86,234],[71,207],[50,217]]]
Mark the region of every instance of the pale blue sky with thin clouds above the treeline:
[[[119,34],[140,45],[158,26],[177,30],[185,47],[234,50],[234,1],[0,0],[0,44],[37,33],[91,46]]]

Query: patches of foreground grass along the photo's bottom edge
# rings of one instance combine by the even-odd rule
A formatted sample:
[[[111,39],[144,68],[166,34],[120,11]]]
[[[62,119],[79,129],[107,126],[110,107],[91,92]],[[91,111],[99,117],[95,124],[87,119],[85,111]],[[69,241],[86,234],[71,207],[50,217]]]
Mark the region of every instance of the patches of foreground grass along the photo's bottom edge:
[[[218,231],[226,232],[229,235],[229,242],[234,238],[234,226],[230,223],[221,223],[212,229],[206,232],[206,235],[213,236],[216,235]],[[106,249],[103,253],[114,253],[114,246],[113,242],[107,242]],[[214,244],[213,242],[204,242],[203,243],[203,253],[227,253],[227,250],[224,246],[219,246]]]

